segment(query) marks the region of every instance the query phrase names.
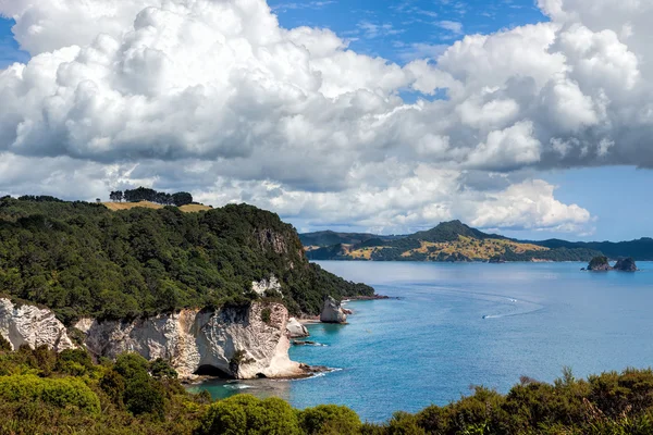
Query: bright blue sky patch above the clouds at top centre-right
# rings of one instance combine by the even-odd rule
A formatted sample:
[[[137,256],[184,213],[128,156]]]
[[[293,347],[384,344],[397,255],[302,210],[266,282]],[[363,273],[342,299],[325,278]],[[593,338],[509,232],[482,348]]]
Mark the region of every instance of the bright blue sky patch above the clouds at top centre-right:
[[[353,50],[401,64],[415,59],[419,48],[438,52],[439,46],[446,47],[465,34],[546,20],[532,0],[274,0],[269,4],[284,27],[328,27],[350,39]]]

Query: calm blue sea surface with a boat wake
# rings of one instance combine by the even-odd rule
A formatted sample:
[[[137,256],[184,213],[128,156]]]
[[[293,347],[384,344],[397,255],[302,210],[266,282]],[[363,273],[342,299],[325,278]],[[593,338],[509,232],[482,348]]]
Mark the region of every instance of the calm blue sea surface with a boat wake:
[[[213,397],[278,396],[296,408],[346,405],[364,420],[446,405],[521,375],[552,382],[653,365],[653,263],[638,273],[581,263],[320,262],[391,300],[355,301],[347,325],[309,326],[291,358],[335,369],[300,381],[209,382]]]

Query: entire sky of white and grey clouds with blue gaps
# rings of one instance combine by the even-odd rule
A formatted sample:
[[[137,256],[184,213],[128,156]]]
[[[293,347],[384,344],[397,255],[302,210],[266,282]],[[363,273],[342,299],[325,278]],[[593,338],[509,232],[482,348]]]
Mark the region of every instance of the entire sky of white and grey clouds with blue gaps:
[[[0,195],[653,236],[641,0],[0,0]]]

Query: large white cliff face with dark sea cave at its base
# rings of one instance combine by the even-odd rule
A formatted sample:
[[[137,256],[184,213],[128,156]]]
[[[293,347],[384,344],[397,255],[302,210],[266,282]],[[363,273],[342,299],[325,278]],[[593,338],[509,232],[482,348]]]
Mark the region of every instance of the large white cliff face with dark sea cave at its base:
[[[214,311],[183,310],[135,322],[84,320],[85,344],[97,355],[115,358],[134,351],[171,362],[181,377],[196,374],[232,378],[296,377],[305,372],[291,361],[286,336],[288,312],[280,303]]]

